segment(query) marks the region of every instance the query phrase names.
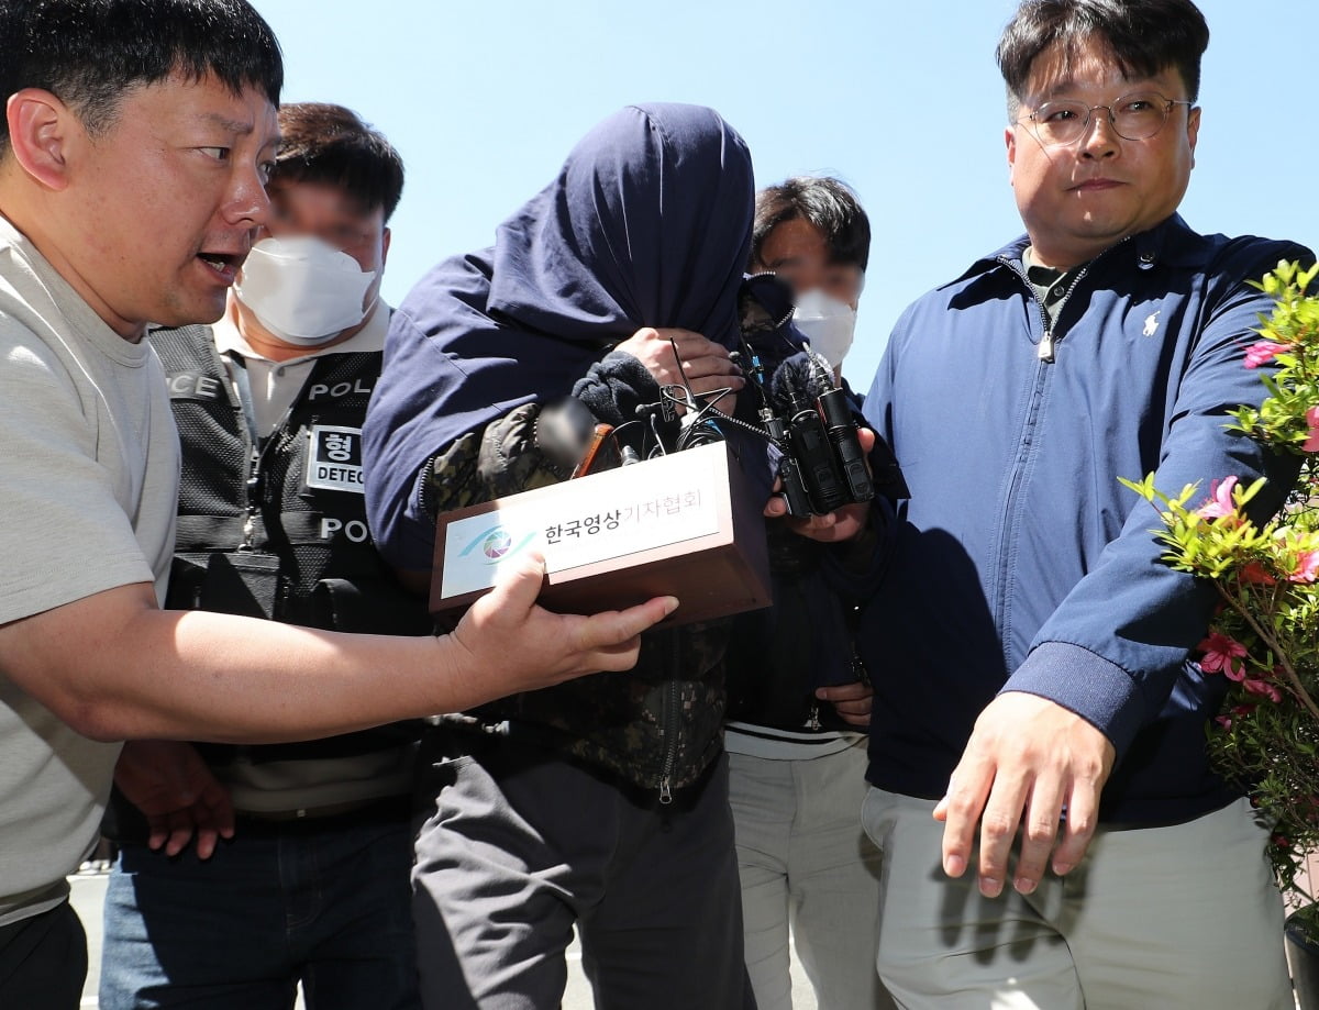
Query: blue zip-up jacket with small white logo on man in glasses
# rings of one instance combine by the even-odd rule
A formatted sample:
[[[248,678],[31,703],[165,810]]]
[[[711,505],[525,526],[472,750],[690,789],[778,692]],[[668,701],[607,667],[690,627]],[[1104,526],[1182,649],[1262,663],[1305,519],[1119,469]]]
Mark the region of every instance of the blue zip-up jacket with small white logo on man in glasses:
[[[1295,461],[1225,414],[1265,396],[1244,351],[1272,302],[1246,281],[1314,256],[1174,216],[1091,261],[1050,340],[1026,245],[915,302],[865,401],[911,489],[861,616],[868,778],[942,796],[980,711],[1026,691],[1117,749],[1101,820],[1184,820],[1233,795],[1204,754],[1221,678],[1187,662],[1215,595],[1159,560],[1157,510],[1117,477],[1154,471],[1161,490],[1200,481],[1207,497],[1213,479],[1264,475],[1252,512],[1277,508]]]

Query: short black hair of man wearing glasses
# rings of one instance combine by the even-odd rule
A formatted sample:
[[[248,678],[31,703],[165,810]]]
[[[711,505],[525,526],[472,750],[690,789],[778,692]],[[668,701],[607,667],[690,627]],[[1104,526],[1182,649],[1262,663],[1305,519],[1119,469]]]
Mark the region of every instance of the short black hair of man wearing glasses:
[[[1091,38],[1111,50],[1126,76],[1154,76],[1173,67],[1182,75],[1187,99],[1195,102],[1200,94],[1200,57],[1210,46],[1210,26],[1191,0],[1025,0],[996,53],[1008,86],[1009,117],[1017,116],[1041,53],[1059,46],[1066,66]]]

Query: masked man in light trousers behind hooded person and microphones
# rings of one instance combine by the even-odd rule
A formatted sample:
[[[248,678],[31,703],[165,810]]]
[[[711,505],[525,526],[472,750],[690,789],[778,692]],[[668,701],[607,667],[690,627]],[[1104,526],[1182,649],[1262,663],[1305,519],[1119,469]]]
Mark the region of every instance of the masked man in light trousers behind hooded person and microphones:
[[[871,251],[847,186],[794,178],[756,194],[751,269],[797,298],[794,322],[842,380]],[[856,409],[860,409],[859,402]],[[874,973],[880,854],[865,796],[871,686],[826,549],[769,526],[774,605],[739,614],[728,643],[728,795],[747,970],[760,1010],[793,1005],[789,932],[820,1006],[893,1006]]]

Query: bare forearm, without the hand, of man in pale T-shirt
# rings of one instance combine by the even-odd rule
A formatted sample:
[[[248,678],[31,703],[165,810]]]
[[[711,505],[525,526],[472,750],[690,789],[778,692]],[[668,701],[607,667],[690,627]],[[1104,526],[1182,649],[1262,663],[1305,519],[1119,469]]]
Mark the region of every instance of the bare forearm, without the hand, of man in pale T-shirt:
[[[452,662],[459,646],[448,638],[158,610],[135,588],[4,632],[22,636],[20,683],[88,736],[315,738],[488,700]],[[5,649],[7,666],[15,651]]]

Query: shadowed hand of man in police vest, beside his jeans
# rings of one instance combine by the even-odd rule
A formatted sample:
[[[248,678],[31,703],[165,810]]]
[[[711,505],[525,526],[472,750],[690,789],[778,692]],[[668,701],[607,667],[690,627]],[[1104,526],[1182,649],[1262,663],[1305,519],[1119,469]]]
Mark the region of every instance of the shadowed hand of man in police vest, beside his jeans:
[[[115,785],[146,815],[152,849],[178,856],[197,839],[197,856],[211,858],[219,840],[233,837],[230,791],[191,744],[129,740],[115,765]]]

